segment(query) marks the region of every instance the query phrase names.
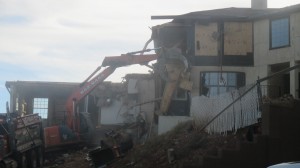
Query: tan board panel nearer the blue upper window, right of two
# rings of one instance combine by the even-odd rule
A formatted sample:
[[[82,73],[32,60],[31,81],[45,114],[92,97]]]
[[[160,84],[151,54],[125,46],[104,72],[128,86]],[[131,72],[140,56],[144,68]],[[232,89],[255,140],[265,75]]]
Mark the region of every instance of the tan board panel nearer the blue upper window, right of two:
[[[247,55],[252,53],[252,23],[224,23],[224,55]]]

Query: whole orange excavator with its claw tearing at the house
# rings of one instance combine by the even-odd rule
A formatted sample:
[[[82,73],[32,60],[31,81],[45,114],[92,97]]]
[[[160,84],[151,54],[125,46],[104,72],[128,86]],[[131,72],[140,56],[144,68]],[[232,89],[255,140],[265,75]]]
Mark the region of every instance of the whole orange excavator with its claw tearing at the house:
[[[155,54],[144,54],[154,50]],[[172,94],[179,85],[186,90],[191,89],[188,80],[187,61],[177,49],[144,49],[141,51],[122,54],[121,56],[105,57],[101,66],[82,82],[66,101],[66,124],[44,128],[45,148],[65,146],[79,142],[87,142],[93,136],[94,127],[89,113],[79,112],[78,104],[98,85],[111,75],[116,68],[133,64],[148,65],[157,60],[156,69],[162,78],[166,79],[166,86],[161,98],[158,114],[166,113],[170,105]],[[105,68],[100,73],[102,68]],[[97,74],[98,73],[98,74]]]

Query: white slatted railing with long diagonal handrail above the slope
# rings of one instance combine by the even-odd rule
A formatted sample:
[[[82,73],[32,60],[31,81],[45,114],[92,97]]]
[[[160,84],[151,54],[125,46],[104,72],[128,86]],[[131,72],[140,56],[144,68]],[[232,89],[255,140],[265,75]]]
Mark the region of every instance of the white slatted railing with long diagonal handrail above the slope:
[[[258,79],[255,84],[227,92],[218,97],[199,97],[197,100],[193,100],[196,101],[194,107],[192,104],[192,109],[196,109],[192,111],[196,124],[197,121],[201,124],[204,122],[200,131],[205,130],[211,134],[226,134],[258,123],[261,118],[261,105],[264,103],[263,99],[268,96],[268,92],[274,93],[275,90],[277,93],[273,95],[282,96],[278,85],[261,85],[261,83],[297,68],[300,68],[300,65]]]

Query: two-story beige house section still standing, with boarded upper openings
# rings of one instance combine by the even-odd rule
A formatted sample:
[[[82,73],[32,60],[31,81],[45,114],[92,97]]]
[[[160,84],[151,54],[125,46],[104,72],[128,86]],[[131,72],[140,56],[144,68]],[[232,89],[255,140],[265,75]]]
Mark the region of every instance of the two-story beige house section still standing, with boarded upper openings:
[[[192,96],[216,96],[300,63],[300,5],[270,9],[266,0],[252,0],[251,8],[152,19],[173,19],[154,26],[152,38],[155,47],[178,47],[189,60]],[[298,69],[264,84],[276,87],[269,95],[299,98]]]

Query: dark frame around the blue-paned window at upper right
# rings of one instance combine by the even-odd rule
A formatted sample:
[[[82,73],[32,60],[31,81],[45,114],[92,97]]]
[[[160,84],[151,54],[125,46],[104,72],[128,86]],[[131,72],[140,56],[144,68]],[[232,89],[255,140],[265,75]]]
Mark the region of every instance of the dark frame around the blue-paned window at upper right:
[[[273,47],[273,34],[272,34],[272,22],[276,20],[282,20],[282,19],[287,19],[288,20],[288,44],[286,45],[281,45],[281,46],[276,46]],[[291,46],[291,23],[290,23],[290,16],[284,16],[284,17],[277,17],[269,20],[269,49],[279,49],[279,48],[285,48],[285,47],[290,47]]]

